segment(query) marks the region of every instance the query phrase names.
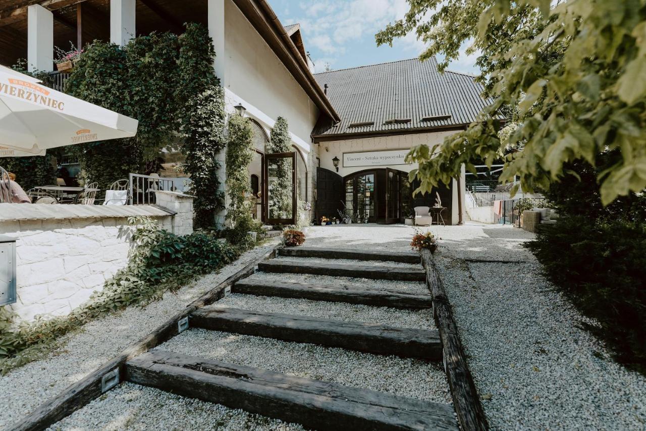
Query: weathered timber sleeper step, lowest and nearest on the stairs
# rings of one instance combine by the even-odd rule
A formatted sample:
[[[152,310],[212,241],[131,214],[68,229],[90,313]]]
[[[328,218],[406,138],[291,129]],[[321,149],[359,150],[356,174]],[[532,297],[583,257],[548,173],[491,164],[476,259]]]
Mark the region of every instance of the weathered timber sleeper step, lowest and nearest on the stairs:
[[[319,430],[457,430],[450,404],[154,350],[129,360],[136,384]]]

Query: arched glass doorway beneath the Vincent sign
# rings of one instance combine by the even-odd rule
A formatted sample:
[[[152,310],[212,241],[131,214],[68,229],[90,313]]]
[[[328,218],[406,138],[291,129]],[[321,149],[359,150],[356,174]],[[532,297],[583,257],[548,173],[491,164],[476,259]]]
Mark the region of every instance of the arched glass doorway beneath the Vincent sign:
[[[408,173],[386,169],[353,172],[343,178],[346,212],[359,222],[401,223],[410,206]]]

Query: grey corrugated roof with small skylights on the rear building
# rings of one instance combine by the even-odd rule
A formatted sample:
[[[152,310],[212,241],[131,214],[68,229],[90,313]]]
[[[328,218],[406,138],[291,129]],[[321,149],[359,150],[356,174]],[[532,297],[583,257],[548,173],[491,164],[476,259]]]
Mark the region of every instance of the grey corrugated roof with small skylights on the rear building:
[[[314,75],[341,121],[321,118],[313,136],[463,126],[491,100],[475,76],[437,71],[437,61],[393,61]]]

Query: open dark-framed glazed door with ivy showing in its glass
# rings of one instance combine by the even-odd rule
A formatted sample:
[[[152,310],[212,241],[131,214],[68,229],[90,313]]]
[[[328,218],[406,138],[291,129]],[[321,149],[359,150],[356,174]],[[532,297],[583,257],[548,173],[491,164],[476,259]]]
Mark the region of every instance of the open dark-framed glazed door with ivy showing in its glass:
[[[295,225],[297,217],[296,153],[266,154],[264,157],[263,204],[269,225]]]

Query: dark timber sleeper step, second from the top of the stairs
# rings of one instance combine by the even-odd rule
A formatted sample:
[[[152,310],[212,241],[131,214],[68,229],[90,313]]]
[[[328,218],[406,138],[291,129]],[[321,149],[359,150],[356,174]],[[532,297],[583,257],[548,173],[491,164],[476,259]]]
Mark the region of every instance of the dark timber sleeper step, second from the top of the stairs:
[[[353,263],[301,263],[289,260],[269,260],[258,263],[258,269],[264,272],[370,278],[372,280],[401,280],[404,282],[424,282],[426,280],[426,273],[423,269],[355,265]]]

